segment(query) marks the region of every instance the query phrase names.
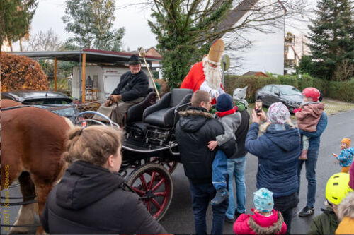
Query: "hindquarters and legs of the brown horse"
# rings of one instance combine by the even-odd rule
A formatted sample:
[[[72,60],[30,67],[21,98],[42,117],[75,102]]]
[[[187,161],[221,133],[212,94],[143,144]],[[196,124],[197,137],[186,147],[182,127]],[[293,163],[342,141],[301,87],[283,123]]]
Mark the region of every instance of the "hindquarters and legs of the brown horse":
[[[1,108],[13,106],[21,104],[1,100]],[[69,119],[45,109],[23,106],[1,111],[1,191],[18,179],[23,202],[36,195],[41,215],[48,193],[61,176],[61,156],[71,127]],[[15,224],[33,222],[34,204],[22,205]],[[10,233],[28,233],[28,228],[13,227]],[[41,233],[38,227],[37,234]]]

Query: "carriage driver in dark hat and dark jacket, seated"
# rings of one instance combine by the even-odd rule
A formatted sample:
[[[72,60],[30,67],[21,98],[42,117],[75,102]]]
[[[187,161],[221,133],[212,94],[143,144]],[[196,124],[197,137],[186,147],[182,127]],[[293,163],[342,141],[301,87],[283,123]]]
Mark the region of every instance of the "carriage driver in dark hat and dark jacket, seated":
[[[142,102],[147,96],[149,90],[149,79],[141,70],[138,56],[133,54],[129,60],[130,71],[124,73],[120,77],[120,83],[117,88],[110,94],[105,104],[97,110],[101,114],[105,114],[112,121],[122,126],[122,120],[127,112],[127,109],[134,104]],[[100,120],[97,115],[94,119]]]

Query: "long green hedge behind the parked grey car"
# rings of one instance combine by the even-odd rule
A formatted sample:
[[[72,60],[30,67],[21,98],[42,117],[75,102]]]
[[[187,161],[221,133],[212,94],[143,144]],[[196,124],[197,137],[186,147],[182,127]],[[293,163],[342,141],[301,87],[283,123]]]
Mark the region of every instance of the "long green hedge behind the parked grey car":
[[[256,91],[268,84],[286,84],[293,85],[299,90],[304,90],[307,87],[314,87],[324,94],[325,97],[346,102],[354,102],[354,78],[346,82],[329,82],[319,78],[312,78],[308,75],[302,75],[299,78],[297,75],[285,75],[278,77],[256,77],[256,76],[225,76],[225,91],[232,95],[235,88],[247,88],[246,100],[254,102]]]

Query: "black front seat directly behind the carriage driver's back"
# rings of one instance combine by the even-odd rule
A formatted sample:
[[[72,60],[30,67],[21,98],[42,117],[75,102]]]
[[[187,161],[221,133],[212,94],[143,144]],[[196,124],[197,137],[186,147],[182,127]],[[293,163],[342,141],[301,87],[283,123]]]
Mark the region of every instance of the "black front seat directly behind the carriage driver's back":
[[[149,93],[147,97],[142,102],[132,105],[125,116],[125,123],[132,123],[137,121],[142,121],[142,114],[144,110],[156,103],[156,92],[153,88],[149,88]]]

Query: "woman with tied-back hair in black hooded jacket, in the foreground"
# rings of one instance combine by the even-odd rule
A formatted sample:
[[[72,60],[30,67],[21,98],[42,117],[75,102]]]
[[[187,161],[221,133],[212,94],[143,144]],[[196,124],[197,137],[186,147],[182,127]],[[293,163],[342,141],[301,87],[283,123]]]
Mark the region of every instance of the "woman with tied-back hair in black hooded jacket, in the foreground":
[[[50,234],[166,234],[118,174],[120,131],[105,126],[69,132],[72,162],[52,189],[41,222]]]

